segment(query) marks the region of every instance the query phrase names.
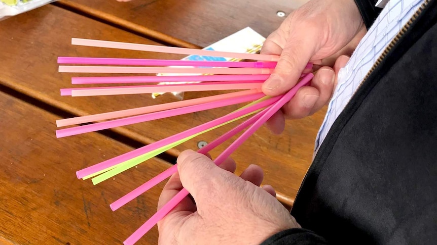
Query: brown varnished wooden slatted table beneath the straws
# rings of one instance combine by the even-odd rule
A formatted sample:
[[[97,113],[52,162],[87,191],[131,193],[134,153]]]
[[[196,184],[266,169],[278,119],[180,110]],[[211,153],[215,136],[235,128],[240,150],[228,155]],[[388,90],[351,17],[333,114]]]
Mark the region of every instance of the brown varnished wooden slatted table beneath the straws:
[[[4,130],[5,132],[2,132],[5,135],[2,135],[3,137],[1,138],[8,140],[3,140],[2,144],[0,144],[0,151],[2,153],[0,158],[4,160],[2,161],[2,164],[5,164],[5,161],[6,164],[9,164],[8,159],[14,159],[14,161],[17,161],[17,164],[21,163],[19,164],[20,167],[28,165],[30,161],[34,162],[34,165],[32,165],[34,168],[13,168],[18,172],[11,172],[11,166],[7,165],[7,170],[5,171],[9,172],[2,176],[6,177],[1,179],[2,187],[0,188],[2,188],[2,193],[4,193],[3,191],[7,193],[6,195],[3,195],[3,198],[7,198],[11,203],[14,203],[15,206],[5,206],[8,207],[8,215],[0,215],[1,224],[6,224],[7,222],[11,223],[11,225],[8,225],[6,229],[4,229],[3,225],[0,227],[2,228],[0,229],[0,241],[2,241],[2,238],[9,240],[12,243],[26,243],[26,240],[28,240],[31,244],[34,244],[44,243],[44,240],[35,239],[47,240],[55,239],[54,237],[56,237],[56,239],[58,239],[57,241],[63,243],[70,242],[71,244],[120,243],[121,240],[125,239],[155,211],[157,198],[160,188],[162,188],[162,184],[160,187],[156,187],[142,195],[141,198],[135,200],[132,204],[129,204],[126,208],[120,209],[120,211],[117,211],[116,213],[112,213],[110,209],[108,209],[106,205],[107,202],[114,201],[127,191],[150,179],[160,171],[168,168],[170,165],[159,159],[150,160],[139,165],[138,169],[129,170],[126,173],[117,175],[115,181],[106,181],[94,187],[89,181],[83,182],[77,180],[74,174],[75,171],[85,166],[130,151],[132,147],[138,148],[144,144],[155,142],[156,140],[178,133],[195,125],[210,121],[237,108],[237,106],[231,106],[207,112],[193,113],[159,121],[130,125],[123,128],[106,130],[101,133],[90,133],[69,138],[55,139],[54,130],[56,128],[53,122],[60,117],[88,115],[176,100],[174,97],[167,95],[160,96],[158,99],[153,100],[148,94],[106,97],[98,96],[91,98],[61,97],[59,95],[59,88],[70,87],[69,78],[75,74],[57,73],[57,56],[142,57],[151,59],[180,59],[183,57],[179,55],[140,53],[69,45],[71,37],[116,39],[119,41],[148,44],[172,43],[169,41],[171,38],[160,39],[156,36],[151,36],[155,41],[143,38],[141,36],[144,36],[147,33],[138,33],[133,31],[133,29],[119,26],[117,20],[120,20],[121,17],[126,17],[124,21],[127,23],[133,23],[137,26],[151,29],[151,26],[146,26],[144,23],[151,23],[149,21],[157,18],[156,16],[158,16],[159,13],[166,16],[171,15],[174,18],[182,18],[175,15],[174,10],[171,12],[171,10],[163,7],[163,2],[177,3],[177,1],[158,1],[150,3],[150,5],[141,5],[141,8],[137,9],[132,9],[131,7],[126,9],[124,7],[118,7],[118,11],[117,6],[131,5],[115,5],[115,1],[96,2],[101,4],[99,6],[100,8],[96,11],[105,13],[106,17],[111,17],[105,20],[106,24],[100,22],[103,21],[102,18],[96,18],[97,20],[93,20],[89,18],[92,16],[88,15],[85,11],[80,11],[78,8],[75,9],[71,7],[72,3],[79,4],[82,6],[81,8],[83,8],[83,6],[88,9],[95,7],[93,7],[92,3],[89,3],[89,6],[87,6],[85,5],[86,1],[81,2],[79,0],[75,2],[61,1],[57,6],[45,6],[0,22],[0,33],[2,33],[0,35],[0,46],[6,47],[4,51],[0,52],[0,67],[2,67],[0,72],[0,91],[7,93],[2,94],[2,99],[5,101],[5,105],[11,103],[18,105],[16,107],[2,107],[4,113],[2,114],[2,117],[0,117],[0,122],[2,123],[2,128],[5,128],[6,130]],[[137,1],[136,5],[138,5],[139,2],[144,1]],[[193,2],[198,2],[198,4],[201,5],[200,1]],[[243,2],[244,1],[238,3],[240,3],[241,6],[244,6]],[[264,3],[263,1],[255,2],[259,5],[253,8],[267,8],[266,6],[262,6]],[[70,4],[70,7],[68,7],[68,4]],[[131,4],[135,5],[135,3]],[[223,13],[226,13],[225,10],[228,6],[226,2],[221,4],[221,2],[213,1],[211,1],[209,5],[209,16],[212,16],[212,14],[214,14],[214,16],[223,15]],[[62,8],[68,7],[69,10],[74,10],[78,13],[64,10],[59,6]],[[220,6],[222,7],[219,8]],[[215,11],[212,11],[212,9],[214,9],[212,7],[215,8]],[[148,20],[147,22],[138,22],[141,20],[139,18],[139,13],[145,11],[144,8],[152,8],[154,10],[153,13],[155,13],[156,16],[148,16],[146,18]],[[197,7],[193,8],[187,8],[186,11],[189,15],[193,15],[192,11]],[[272,7],[272,9],[275,8]],[[128,15],[128,13],[130,14]],[[117,15],[119,17],[117,17]],[[203,17],[196,18],[202,19]],[[198,25],[196,24],[198,23],[196,22],[196,18],[193,17],[192,19],[183,20],[187,21],[187,26],[189,26],[189,28],[194,29],[194,27]],[[275,16],[275,18],[278,17]],[[171,18],[168,20],[166,19],[166,23],[163,20],[162,25],[155,23],[153,26],[155,28],[154,31],[157,33],[163,33],[163,36],[172,37],[173,40],[182,40],[185,42],[185,44],[179,43],[179,46],[204,46],[237,31],[240,27],[250,25],[252,25],[251,27],[256,30],[256,27],[259,27],[260,32],[268,32],[275,28],[266,25],[266,23],[257,24],[257,22],[253,22],[255,18],[249,16],[245,16],[241,20],[237,18],[236,20],[238,21],[230,21],[229,18],[225,18],[223,20],[225,21],[224,26],[213,26],[211,29],[206,28],[205,30],[208,31],[205,35],[202,33],[196,37],[197,39],[190,39],[187,33],[191,32],[191,36],[194,36],[193,33],[198,32],[186,29],[169,31],[165,34],[164,31],[167,30],[166,25],[169,25],[169,20],[171,20]],[[205,20],[203,24],[206,26],[208,23],[212,22],[214,22],[213,19],[208,19]],[[229,25],[231,22],[235,23]],[[279,24],[280,21],[277,21],[277,23]],[[218,28],[217,30],[227,30],[227,24],[229,26],[229,33],[221,31],[213,32],[214,28]],[[174,37],[170,35],[173,35]],[[218,92],[186,93],[185,98],[190,99],[193,97],[217,93]],[[11,97],[8,94],[13,94],[15,97]],[[34,106],[31,106],[28,103],[34,104]],[[8,115],[8,117],[6,118],[5,115]],[[31,118],[43,118],[44,120],[29,120],[27,115],[33,115]],[[311,161],[314,137],[322,117],[323,112],[320,112],[303,120],[289,121],[287,122],[286,131],[280,136],[270,134],[266,128],[260,129],[232,155],[238,163],[237,173],[240,173],[249,164],[258,164],[262,166],[266,170],[264,183],[273,185],[280,192],[278,198],[285,205],[292,205],[296,191]],[[19,121],[19,125],[14,124],[15,121]],[[169,162],[174,162],[180,151],[185,149],[195,150],[197,149],[197,142],[199,140],[209,142],[218,135],[229,130],[232,126],[235,126],[235,124],[202,135],[168,151],[165,155],[161,155],[160,157]],[[29,131],[29,129],[32,129],[33,131]],[[16,145],[19,144],[19,142],[22,142],[16,142],[14,137],[17,137],[17,140],[20,140],[19,137],[25,136],[33,138],[31,136],[32,132],[38,130],[40,130],[40,133],[45,136],[39,138],[37,141],[20,145],[20,148],[14,147],[13,142],[15,142]],[[9,140],[10,138],[11,140]],[[31,141],[33,140],[35,139],[32,139]],[[229,144],[229,142],[227,144]],[[227,144],[214,150],[212,156],[217,156],[218,153],[226,148]],[[42,149],[47,151],[46,154],[42,155]],[[86,149],[87,152],[85,152],[84,149]],[[7,152],[8,154],[4,154],[3,152]],[[26,155],[27,153],[29,155]],[[69,157],[71,159],[65,160],[65,164],[68,164],[67,166],[69,166],[69,168],[58,166],[60,164],[56,164],[56,170],[49,168],[56,161],[60,162],[65,156],[71,156]],[[14,165],[14,161],[12,161],[13,164],[11,165]],[[57,171],[56,174],[53,174],[53,171]],[[35,176],[41,173],[43,174],[43,177],[45,177],[44,174],[48,176],[51,173],[50,175],[54,178],[44,178],[43,180],[46,182],[39,181],[32,185],[30,185],[30,183],[27,183],[26,185],[26,179],[22,178],[24,179],[24,182],[20,182],[21,186],[27,188],[23,188],[21,192],[11,191],[11,189],[13,189],[12,186],[17,183],[17,176],[34,176],[32,177],[33,179],[39,179]],[[27,177],[27,179],[31,178]],[[122,179],[123,181],[118,182]],[[63,188],[64,191],[62,192],[61,197],[55,197],[55,190],[58,187],[60,189]],[[104,195],[102,194],[103,192],[105,193]],[[81,197],[81,195],[84,195],[83,193],[86,194]],[[23,207],[18,207],[19,203],[25,202],[22,200],[23,198],[27,200],[33,198],[35,204],[42,204],[45,208],[35,209],[34,206],[27,207],[25,205]],[[58,199],[59,202],[71,203],[71,206],[68,206],[70,210],[66,212],[66,207],[62,206],[62,208],[59,208],[59,217],[54,216],[56,219],[47,218],[47,214],[55,212],[55,207],[58,207],[56,204],[53,206],[56,202],[55,199]],[[90,207],[92,207],[92,215],[89,215],[91,212]],[[37,233],[35,233],[38,230],[30,228],[30,226],[26,226],[26,229],[22,228],[24,227],[24,222],[28,222],[25,219],[28,218],[26,215],[28,215],[29,212],[33,215],[31,216],[32,222],[34,222],[34,224],[44,224],[47,234],[53,235],[53,237],[38,236]],[[87,215],[88,220],[86,219]],[[11,217],[17,218],[13,219]],[[13,219],[14,222],[10,221],[11,219]],[[55,223],[68,223],[81,228],[77,228],[77,230],[71,233],[69,232],[69,228],[65,228],[71,226],[65,226],[65,229],[61,230],[59,227],[54,226]],[[21,229],[26,230],[26,232],[14,232],[14,230]],[[120,230],[120,232],[118,234],[108,235],[109,238],[105,238],[104,235],[111,233],[109,232],[111,229],[117,229]],[[147,237],[148,238],[142,239],[142,242],[147,244],[156,243],[157,230],[154,229]],[[54,242],[47,243],[51,244]]]

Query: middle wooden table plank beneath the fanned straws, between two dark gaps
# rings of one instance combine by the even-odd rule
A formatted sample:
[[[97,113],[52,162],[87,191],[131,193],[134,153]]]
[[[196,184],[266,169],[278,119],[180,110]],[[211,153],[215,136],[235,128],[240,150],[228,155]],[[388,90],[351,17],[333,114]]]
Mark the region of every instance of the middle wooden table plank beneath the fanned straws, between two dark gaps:
[[[95,97],[61,97],[59,95],[59,88],[70,87],[69,77],[74,76],[74,74],[57,73],[57,65],[55,64],[57,56],[164,59],[179,57],[167,54],[70,46],[68,44],[70,37],[96,39],[115,37],[120,41],[153,43],[150,40],[53,6],[46,6],[2,21],[0,22],[0,32],[2,33],[0,43],[2,46],[8,47],[5,52],[0,53],[0,66],[4,70],[0,74],[0,82],[49,105],[75,115],[88,115],[175,101],[170,95],[160,96],[156,100],[151,99],[149,94]],[[190,99],[215,93],[186,93],[185,97]],[[210,121],[237,108],[237,106],[230,106],[192,113],[117,128],[114,131],[147,144]],[[232,155],[239,164],[237,173],[240,173],[249,164],[258,164],[266,170],[265,184],[273,185],[278,191],[285,194],[285,198],[294,198],[311,161],[314,137],[322,118],[323,113],[320,112],[304,120],[288,121],[285,132],[280,136],[270,134],[266,128],[260,129]],[[235,124],[199,136],[188,143],[177,146],[169,153],[177,156],[181,150],[196,149],[197,141],[210,142],[232,126]],[[74,136],[67,140],[74,142],[77,138]],[[225,147],[226,145],[220,146],[212,155],[216,156]]]

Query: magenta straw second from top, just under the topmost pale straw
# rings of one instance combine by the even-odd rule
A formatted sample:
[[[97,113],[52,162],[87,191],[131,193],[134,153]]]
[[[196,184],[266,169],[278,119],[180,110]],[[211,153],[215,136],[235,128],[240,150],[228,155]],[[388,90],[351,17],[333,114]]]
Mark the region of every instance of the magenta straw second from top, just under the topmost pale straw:
[[[152,60],[152,59],[92,58],[92,57],[58,57],[58,64],[275,68],[277,62],[188,61],[188,60]]]

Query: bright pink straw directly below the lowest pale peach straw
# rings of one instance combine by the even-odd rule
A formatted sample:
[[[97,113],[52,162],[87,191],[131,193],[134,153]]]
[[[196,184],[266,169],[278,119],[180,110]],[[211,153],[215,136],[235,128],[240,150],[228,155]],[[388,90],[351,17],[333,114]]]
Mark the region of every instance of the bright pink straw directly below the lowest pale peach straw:
[[[235,97],[232,99],[222,99],[219,101],[209,102],[209,103],[204,103],[204,104],[199,104],[199,105],[194,105],[194,106],[175,108],[175,109],[170,109],[170,110],[166,110],[166,111],[153,112],[153,113],[149,113],[149,114],[145,114],[145,115],[138,115],[138,116],[133,116],[133,117],[128,117],[128,118],[115,119],[112,121],[99,122],[99,123],[93,123],[93,124],[88,124],[88,125],[83,125],[83,126],[72,127],[72,128],[59,129],[59,130],[56,130],[56,137],[61,138],[61,137],[77,135],[77,134],[81,134],[81,133],[89,133],[89,132],[104,130],[104,129],[108,129],[108,128],[121,127],[121,126],[126,126],[126,125],[140,123],[140,122],[148,122],[148,121],[167,118],[167,117],[174,117],[174,116],[184,115],[184,114],[193,113],[193,112],[205,111],[205,110],[210,110],[210,109],[214,109],[214,108],[240,104],[240,103],[244,103],[244,102],[248,102],[248,101],[255,101],[255,100],[260,99],[263,96],[265,96],[264,93],[248,94],[248,95],[244,95],[244,96],[240,96],[240,97]]]

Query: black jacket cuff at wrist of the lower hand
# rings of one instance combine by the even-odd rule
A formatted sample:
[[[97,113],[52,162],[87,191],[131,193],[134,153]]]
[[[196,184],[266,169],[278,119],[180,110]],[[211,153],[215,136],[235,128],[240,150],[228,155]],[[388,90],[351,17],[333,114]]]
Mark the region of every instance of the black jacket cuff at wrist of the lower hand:
[[[288,229],[274,234],[261,245],[325,245],[325,239],[307,229]]]

